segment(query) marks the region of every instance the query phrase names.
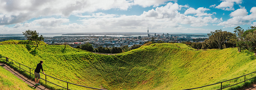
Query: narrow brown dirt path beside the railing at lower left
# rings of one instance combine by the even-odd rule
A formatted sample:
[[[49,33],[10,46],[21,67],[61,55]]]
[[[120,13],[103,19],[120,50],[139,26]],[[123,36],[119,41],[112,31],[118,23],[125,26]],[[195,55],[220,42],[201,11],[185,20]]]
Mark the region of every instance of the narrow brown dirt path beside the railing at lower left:
[[[22,81],[24,81],[25,83],[29,84],[29,86],[34,87],[36,90],[50,90],[47,89],[44,86],[35,86],[35,81],[32,81],[26,77],[24,77],[23,75],[21,75],[20,73],[18,73],[17,71],[15,71],[14,69],[12,69],[11,67],[9,67],[8,65],[5,65],[3,63],[0,63],[0,66],[2,66],[3,68],[5,68],[6,70],[8,70],[9,72],[11,72],[12,74],[14,74],[16,77],[20,78]]]

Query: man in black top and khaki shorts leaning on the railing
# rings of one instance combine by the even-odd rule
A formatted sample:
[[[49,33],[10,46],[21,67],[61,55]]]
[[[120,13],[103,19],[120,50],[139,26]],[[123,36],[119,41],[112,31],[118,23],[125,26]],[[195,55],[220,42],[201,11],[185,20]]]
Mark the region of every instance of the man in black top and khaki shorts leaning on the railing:
[[[43,61],[40,61],[40,63],[38,63],[38,64],[36,65],[36,69],[35,69],[35,72],[34,72],[34,74],[35,74],[36,86],[41,85],[41,84],[39,84],[39,80],[40,80],[40,78],[41,78],[41,77],[40,77],[40,70],[42,69],[42,72],[44,73],[42,64],[43,64]],[[45,74],[45,73],[44,73],[44,74]]]

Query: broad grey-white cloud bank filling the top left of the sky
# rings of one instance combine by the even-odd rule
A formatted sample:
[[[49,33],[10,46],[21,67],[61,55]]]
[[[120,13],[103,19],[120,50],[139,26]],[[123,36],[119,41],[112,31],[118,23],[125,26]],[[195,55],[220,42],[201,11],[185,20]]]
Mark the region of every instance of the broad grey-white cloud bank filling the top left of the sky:
[[[127,10],[133,5],[159,6],[176,0],[1,0],[0,25],[24,23],[31,18],[61,16],[97,10]]]

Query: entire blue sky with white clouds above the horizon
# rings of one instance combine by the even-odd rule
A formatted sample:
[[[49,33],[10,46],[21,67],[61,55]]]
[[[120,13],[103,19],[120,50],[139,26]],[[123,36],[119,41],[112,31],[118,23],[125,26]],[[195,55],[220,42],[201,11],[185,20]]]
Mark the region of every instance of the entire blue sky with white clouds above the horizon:
[[[0,34],[210,33],[256,25],[256,0],[0,0]]]

